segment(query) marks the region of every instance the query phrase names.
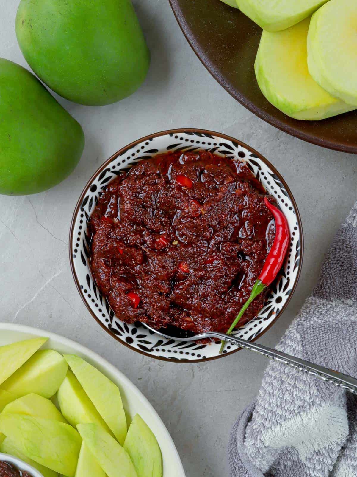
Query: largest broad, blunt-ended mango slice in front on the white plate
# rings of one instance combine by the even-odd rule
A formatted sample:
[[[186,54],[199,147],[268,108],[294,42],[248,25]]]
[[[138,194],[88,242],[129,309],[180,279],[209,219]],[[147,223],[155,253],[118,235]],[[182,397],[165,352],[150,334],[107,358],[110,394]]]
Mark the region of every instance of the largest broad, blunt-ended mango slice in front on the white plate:
[[[71,425],[28,415],[0,414],[0,431],[25,456],[74,477],[82,439]]]

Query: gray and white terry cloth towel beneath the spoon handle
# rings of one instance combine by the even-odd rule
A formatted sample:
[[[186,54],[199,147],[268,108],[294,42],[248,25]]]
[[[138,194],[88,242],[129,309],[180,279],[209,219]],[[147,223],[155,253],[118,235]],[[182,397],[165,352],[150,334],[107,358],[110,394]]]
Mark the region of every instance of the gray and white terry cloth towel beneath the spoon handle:
[[[356,347],[357,203],[278,349],[357,377]],[[357,477],[357,396],[271,361],[228,456],[232,477]]]

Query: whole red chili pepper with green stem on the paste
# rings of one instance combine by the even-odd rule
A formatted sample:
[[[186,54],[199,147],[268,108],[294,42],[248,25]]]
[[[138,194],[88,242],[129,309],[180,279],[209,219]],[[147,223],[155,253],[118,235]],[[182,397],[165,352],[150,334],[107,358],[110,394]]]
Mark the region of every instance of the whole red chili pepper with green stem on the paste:
[[[263,265],[263,269],[260,272],[258,280],[253,286],[250,297],[244,303],[236,319],[230,325],[227,334],[231,334],[231,332],[235,329],[238,321],[241,319],[250,303],[275,280],[276,276],[278,275],[278,271],[283,265],[285,256],[288,251],[290,241],[288,220],[281,212],[281,210],[278,209],[278,207],[273,206],[273,204],[269,202],[268,197],[264,197],[264,203],[268,207],[270,212],[273,214],[275,219],[274,242],[268,253],[268,257]],[[225,341],[222,341],[222,346],[219,350],[219,354],[223,352],[225,343]]]

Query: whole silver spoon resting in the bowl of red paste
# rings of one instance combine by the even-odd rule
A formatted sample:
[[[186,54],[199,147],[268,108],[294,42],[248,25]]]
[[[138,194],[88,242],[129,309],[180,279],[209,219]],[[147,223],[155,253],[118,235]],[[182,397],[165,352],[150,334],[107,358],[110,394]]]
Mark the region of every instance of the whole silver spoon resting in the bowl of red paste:
[[[338,373],[333,369],[327,369],[324,366],[310,363],[300,358],[295,358],[295,356],[290,356],[289,354],[282,353],[281,351],[274,350],[272,348],[268,348],[268,346],[263,346],[262,344],[248,342],[246,340],[243,340],[242,338],[237,338],[236,336],[231,336],[225,333],[219,333],[214,331],[199,333],[196,335],[192,334],[191,336],[189,336],[189,333],[185,332],[184,330],[179,330],[175,327],[154,330],[146,323],[142,324],[149,330],[159,334],[163,338],[168,338],[169,340],[175,339],[183,342],[198,341],[204,338],[226,340],[233,344],[238,344],[241,348],[245,348],[246,350],[255,351],[256,353],[263,354],[264,356],[267,356],[272,360],[280,361],[281,363],[287,364],[288,366],[298,369],[303,373],[312,374],[313,376],[316,376],[323,381],[327,381],[328,383],[334,384],[335,386],[347,389],[353,394],[357,394],[357,379],[353,378],[352,376]],[[161,330],[164,330],[165,332],[172,332],[172,334],[165,334]]]

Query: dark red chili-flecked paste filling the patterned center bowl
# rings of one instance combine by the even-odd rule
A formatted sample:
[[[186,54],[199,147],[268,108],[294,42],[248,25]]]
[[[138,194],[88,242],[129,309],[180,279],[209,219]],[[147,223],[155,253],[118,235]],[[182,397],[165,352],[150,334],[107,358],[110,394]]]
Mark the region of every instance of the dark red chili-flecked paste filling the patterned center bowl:
[[[244,163],[207,151],[160,154],[110,182],[90,219],[90,264],[116,316],[227,331],[274,239],[265,195]]]

